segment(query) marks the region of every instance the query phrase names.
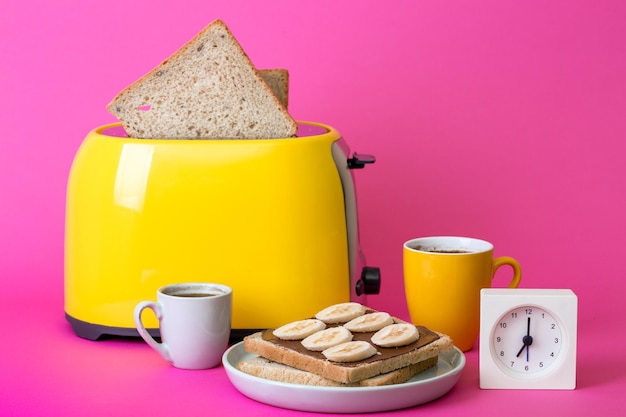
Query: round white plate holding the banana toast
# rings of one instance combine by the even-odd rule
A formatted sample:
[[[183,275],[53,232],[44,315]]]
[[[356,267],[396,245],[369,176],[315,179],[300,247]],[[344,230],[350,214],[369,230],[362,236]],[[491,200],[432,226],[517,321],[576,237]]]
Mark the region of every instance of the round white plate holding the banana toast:
[[[435,400],[452,389],[465,367],[465,355],[456,347],[439,355],[439,362],[403,384],[382,387],[314,387],[289,384],[248,375],[237,364],[257,355],[248,353],[243,342],[230,347],[222,357],[232,384],[246,397],[292,410],[319,413],[372,413],[413,407]]]

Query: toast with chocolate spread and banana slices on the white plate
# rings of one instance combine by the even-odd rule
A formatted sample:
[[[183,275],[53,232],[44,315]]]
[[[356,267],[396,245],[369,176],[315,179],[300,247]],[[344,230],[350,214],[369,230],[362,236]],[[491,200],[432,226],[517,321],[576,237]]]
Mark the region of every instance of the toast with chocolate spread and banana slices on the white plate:
[[[360,381],[403,369],[401,373],[407,375],[404,380],[394,377],[388,381],[395,382],[386,383],[404,382],[426,369],[417,364],[423,362],[422,365],[429,363],[432,366],[440,353],[452,347],[452,340],[447,335],[358,303],[336,304],[321,310],[314,318],[287,323],[244,338],[244,349],[249,353],[347,385],[358,385]],[[285,378],[279,376],[280,372],[266,370],[264,373],[258,366],[247,367],[245,362],[239,366],[244,372],[262,377],[272,374],[269,379]],[[258,365],[259,361],[256,362]],[[415,372],[407,371],[409,369],[415,369]],[[304,377],[295,379],[306,380]]]

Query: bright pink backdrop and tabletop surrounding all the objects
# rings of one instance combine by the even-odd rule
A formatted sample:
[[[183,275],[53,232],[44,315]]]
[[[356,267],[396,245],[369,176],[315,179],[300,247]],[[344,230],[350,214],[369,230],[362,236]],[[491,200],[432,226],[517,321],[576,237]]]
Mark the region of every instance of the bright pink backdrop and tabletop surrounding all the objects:
[[[579,296],[578,389],[481,391],[477,348],[443,399],[397,415],[617,415],[626,389],[626,3],[8,0],[0,13],[0,415],[298,415],[222,368],[89,342],[63,316],[65,187],[123,87],[215,18],[290,111],[376,155],[357,173],[369,304],[407,317],[402,243],[457,234],[516,257],[523,287]],[[506,272],[502,272],[506,275]],[[506,277],[498,278],[500,283]],[[621,397],[620,397],[621,396]],[[124,411],[120,411],[124,410]]]

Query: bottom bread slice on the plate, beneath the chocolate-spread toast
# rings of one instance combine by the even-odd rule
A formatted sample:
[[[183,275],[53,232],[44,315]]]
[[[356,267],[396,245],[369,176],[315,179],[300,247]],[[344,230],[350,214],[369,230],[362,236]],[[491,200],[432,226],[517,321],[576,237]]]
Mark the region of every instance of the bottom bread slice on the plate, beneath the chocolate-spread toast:
[[[291,366],[283,365],[278,362],[270,361],[261,356],[256,356],[239,362],[237,368],[250,375],[254,375],[272,381],[287,382],[290,384],[312,385],[320,387],[377,387],[383,385],[401,384],[408,381],[414,375],[435,366],[438,357],[423,360],[413,365],[406,366],[395,371],[366,378],[361,381],[343,384],[324,378],[311,372],[302,371]]]

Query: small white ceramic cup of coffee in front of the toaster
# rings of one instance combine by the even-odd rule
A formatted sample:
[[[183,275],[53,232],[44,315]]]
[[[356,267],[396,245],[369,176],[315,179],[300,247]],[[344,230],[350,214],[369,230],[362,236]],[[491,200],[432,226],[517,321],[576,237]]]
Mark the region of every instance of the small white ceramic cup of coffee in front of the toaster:
[[[176,368],[213,368],[228,347],[232,294],[230,287],[211,283],[159,288],[158,301],[142,301],[135,307],[137,331]],[[150,336],[141,321],[145,309],[154,311],[159,320],[161,343]]]

